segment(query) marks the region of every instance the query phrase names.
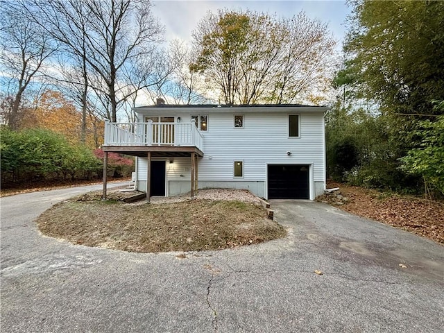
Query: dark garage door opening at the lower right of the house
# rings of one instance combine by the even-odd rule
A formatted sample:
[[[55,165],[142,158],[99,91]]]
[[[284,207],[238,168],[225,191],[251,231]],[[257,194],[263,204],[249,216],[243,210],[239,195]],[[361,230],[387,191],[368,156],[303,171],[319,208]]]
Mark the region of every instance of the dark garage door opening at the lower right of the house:
[[[308,173],[308,165],[269,164],[268,198],[308,199]]]

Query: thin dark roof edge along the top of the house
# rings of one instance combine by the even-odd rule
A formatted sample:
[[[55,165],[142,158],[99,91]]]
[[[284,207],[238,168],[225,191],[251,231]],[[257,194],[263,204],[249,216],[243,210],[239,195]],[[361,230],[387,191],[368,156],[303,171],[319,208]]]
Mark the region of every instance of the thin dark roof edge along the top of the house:
[[[218,104],[160,104],[160,105],[146,105],[146,106],[138,106],[133,108],[135,112],[138,111],[154,111],[158,109],[166,110],[190,110],[190,109],[212,109],[207,110],[210,112],[227,112],[228,110],[242,110],[245,112],[247,110],[250,111],[258,111],[258,112],[268,112],[270,109],[282,109],[282,110],[301,110],[301,111],[326,111],[330,109],[328,106],[317,106],[317,105],[303,105],[303,104],[241,104],[241,105],[218,105]]]

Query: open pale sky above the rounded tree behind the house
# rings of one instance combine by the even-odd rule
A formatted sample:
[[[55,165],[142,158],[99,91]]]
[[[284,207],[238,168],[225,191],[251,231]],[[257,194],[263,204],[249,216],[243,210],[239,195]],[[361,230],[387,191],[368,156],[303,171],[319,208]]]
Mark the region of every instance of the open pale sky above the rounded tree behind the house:
[[[328,24],[341,49],[343,36],[346,31],[345,19],[350,14],[350,8],[345,1],[278,1],[278,0],[244,0],[244,1],[218,1],[218,0],[154,0],[153,14],[165,26],[165,39],[171,41],[175,38],[191,41],[191,33],[200,19],[208,10],[216,12],[219,8],[250,9],[278,17],[292,17],[304,10],[311,19],[319,19]]]

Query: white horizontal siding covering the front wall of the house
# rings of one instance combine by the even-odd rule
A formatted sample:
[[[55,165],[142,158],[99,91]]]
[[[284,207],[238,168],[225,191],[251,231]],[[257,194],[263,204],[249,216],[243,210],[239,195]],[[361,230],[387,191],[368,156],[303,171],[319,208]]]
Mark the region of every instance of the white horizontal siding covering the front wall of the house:
[[[219,111],[219,110],[218,110]],[[191,114],[208,114],[208,130],[201,132],[204,157],[199,159],[199,182],[266,182],[267,164],[309,164],[311,189],[314,182],[325,183],[325,139],[323,112],[215,112],[187,114],[181,110],[183,121]],[[244,114],[244,128],[234,128],[234,114]],[[288,115],[299,114],[300,137],[289,137]],[[287,151],[291,155],[287,155]],[[189,180],[189,157],[157,158],[167,162],[167,182]],[[154,160],[154,159],[153,159]],[[234,178],[234,161],[244,161],[244,177]],[[138,180],[146,180],[146,158],[139,158]],[[265,183],[264,183],[265,184]],[[318,186],[318,185],[317,185]],[[264,185],[265,187],[265,185]],[[316,192],[318,192],[316,190]],[[311,197],[313,197],[311,195]]]

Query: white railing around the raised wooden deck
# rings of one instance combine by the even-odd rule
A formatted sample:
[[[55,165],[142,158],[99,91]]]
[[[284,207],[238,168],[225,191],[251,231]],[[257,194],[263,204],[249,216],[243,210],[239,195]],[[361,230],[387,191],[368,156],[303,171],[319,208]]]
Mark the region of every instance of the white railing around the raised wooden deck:
[[[194,123],[110,123],[105,121],[104,146],[196,146],[203,136]]]

